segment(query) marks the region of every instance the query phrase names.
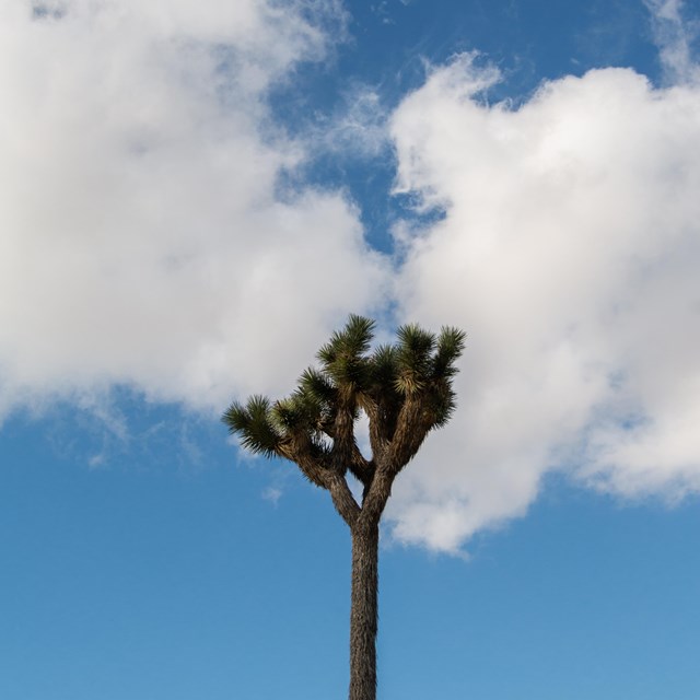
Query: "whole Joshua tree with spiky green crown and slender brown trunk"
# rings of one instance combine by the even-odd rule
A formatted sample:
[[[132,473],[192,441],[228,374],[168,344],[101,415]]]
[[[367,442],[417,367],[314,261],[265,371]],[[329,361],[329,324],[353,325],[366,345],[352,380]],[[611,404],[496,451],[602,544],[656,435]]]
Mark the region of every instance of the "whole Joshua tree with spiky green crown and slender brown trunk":
[[[289,398],[253,396],[245,405],[234,401],[223,416],[244,447],[290,459],[327,489],[350,528],[350,700],[376,698],[380,518],[398,472],[452,416],[452,380],[465,341],[456,328],[435,336],[407,325],[396,345],[371,350],[373,329],[373,320],[350,316],[318,351],[319,369],[307,369]],[[370,459],[355,438],[360,411],[369,418]],[[360,503],[348,472],[362,483]]]

